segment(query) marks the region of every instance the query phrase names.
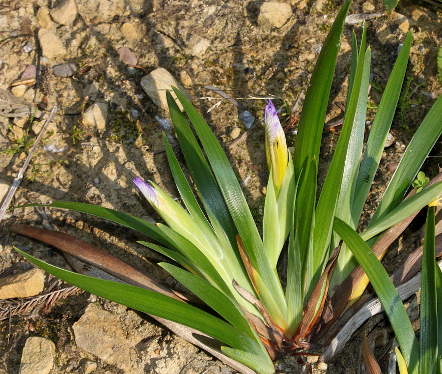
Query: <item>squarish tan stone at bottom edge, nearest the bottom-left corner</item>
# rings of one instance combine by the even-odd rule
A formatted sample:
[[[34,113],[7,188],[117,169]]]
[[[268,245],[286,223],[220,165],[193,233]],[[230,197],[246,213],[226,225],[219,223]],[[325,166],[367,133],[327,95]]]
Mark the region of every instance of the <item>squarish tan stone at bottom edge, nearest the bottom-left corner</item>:
[[[19,374],[49,374],[54,366],[55,345],[50,340],[33,336],[27,339]]]

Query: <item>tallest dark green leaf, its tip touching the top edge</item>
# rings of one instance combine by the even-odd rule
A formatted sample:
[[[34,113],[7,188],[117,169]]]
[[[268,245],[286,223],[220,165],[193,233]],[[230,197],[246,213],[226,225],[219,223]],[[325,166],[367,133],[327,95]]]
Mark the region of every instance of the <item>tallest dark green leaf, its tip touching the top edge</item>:
[[[346,0],[339,10],[319,54],[305,93],[303,111],[298,125],[298,135],[293,157],[296,178],[306,169],[310,160],[319,160],[324,120],[329,103],[331,82],[351,0]]]

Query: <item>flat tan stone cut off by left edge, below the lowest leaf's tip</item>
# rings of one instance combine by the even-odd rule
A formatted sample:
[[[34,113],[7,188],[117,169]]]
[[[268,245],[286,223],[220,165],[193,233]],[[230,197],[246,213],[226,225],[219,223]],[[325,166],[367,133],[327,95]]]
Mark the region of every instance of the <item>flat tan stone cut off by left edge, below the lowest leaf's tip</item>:
[[[45,285],[45,271],[31,269],[26,273],[0,278],[0,300],[38,295]]]

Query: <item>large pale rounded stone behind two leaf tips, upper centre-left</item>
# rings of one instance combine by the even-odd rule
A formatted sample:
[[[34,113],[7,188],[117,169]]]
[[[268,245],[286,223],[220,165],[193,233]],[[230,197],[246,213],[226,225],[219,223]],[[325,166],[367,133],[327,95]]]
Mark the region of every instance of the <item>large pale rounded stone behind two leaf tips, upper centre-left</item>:
[[[189,92],[181,86],[176,79],[165,68],[159,67],[153,70],[149,75],[141,79],[141,87],[146,92],[147,96],[160,108],[168,111],[166,90],[168,90],[174,99],[176,95],[171,86],[177,87],[189,100],[192,100]],[[178,107],[183,110],[181,103],[178,102]]]

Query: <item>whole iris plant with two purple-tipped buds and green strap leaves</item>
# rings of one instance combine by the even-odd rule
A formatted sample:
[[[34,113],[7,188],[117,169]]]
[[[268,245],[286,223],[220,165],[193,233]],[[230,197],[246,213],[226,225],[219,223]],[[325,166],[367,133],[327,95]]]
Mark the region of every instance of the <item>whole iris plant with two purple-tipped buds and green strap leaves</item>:
[[[51,204],[109,219],[155,239],[159,244],[140,243],[173,260],[175,264],[159,265],[188,288],[198,303],[208,305],[218,316],[190,303],[191,299],[195,301],[194,296],[170,297],[151,289],[94,279],[20,253],[89,292],[215,338],[219,343],[213,344],[219,344],[222,350],[218,357],[229,357],[227,362],[232,366],[238,362],[245,365],[235,366],[243,373],[251,373],[252,369],[272,374],[275,360],[284,354],[320,353],[332,338],[334,323],[345,318],[346,309],[359,299],[368,284],[368,278],[357,266],[359,257],[353,257],[352,243],[357,240],[374,259],[382,259],[395,239],[390,240],[391,235],[386,238],[388,229],[416,214],[442,193],[440,182],[430,183],[403,200],[442,133],[439,98],[405,150],[372,218],[364,222],[362,227],[366,228],[356,231],[393,119],[412,43],[410,32],[363,151],[371,58],[371,50],[365,45],[365,26],[359,45],[353,33],[344,122],[324,184],[321,189],[318,187],[321,136],[350,3],[346,0],[336,16],[312,73],[293,157],[274,104],[269,101],[265,108],[269,181],[262,233],[221,145],[202,116],[176,88],[173,90],[187,118],[169,92],[167,101],[192,183],[166,136],[166,155],[181,202],[152,182],[146,183],[139,177],[134,180],[165,224],[152,225],[87,204]],[[280,269],[277,263],[284,248],[287,268]],[[286,282],[281,284],[280,278]],[[409,364],[413,360],[412,348],[405,340],[399,343]]]

